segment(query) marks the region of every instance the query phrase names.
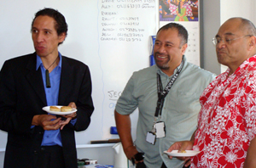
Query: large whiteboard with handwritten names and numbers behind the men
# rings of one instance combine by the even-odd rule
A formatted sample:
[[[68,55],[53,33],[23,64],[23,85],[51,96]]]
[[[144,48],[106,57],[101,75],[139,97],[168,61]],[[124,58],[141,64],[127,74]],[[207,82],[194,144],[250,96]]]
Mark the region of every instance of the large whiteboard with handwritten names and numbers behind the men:
[[[95,111],[84,132],[76,132],[77,144],[119,138],[113,109],[133,71],[148,67],[150,38],[157,30],[157,0],[1,0],[0,67],[7,59],[33,53],[30,33],[34,14],[44,7],[58,9],[67,20],[62,55],[78,59],[90,68]],[[131,115],[135,137],[137,112]],[[0,148],[7,134],[0,132]]]

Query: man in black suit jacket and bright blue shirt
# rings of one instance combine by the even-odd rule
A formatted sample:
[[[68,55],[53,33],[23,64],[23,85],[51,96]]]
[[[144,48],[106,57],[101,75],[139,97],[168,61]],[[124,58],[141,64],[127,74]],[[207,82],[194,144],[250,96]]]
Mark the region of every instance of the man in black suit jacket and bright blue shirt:
[[[88,66],[58,52],[66,36],[64,16],[44,8],[32,21],[36,52],[3,64],[0,129],[8,132],[4,167],[77,168],[74,131],[89,126],[94,107]],[[42,109],[57,104],[77,112],[49,115]]]

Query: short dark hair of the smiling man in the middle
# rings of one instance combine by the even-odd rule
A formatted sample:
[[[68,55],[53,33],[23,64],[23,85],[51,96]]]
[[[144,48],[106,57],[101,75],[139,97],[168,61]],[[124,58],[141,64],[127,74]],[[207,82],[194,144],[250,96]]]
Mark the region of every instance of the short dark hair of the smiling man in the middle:
[[[176,29],[177,30],[177,36],[181,37],[181,45],[184,45],[188,43],[189,34],[188,31],[183,27],[183,25],[177,24],[177,23],[168,23],[160,28],[160,30],[157,31],[157,34],[162,30],[168,30],[168,29]]]

